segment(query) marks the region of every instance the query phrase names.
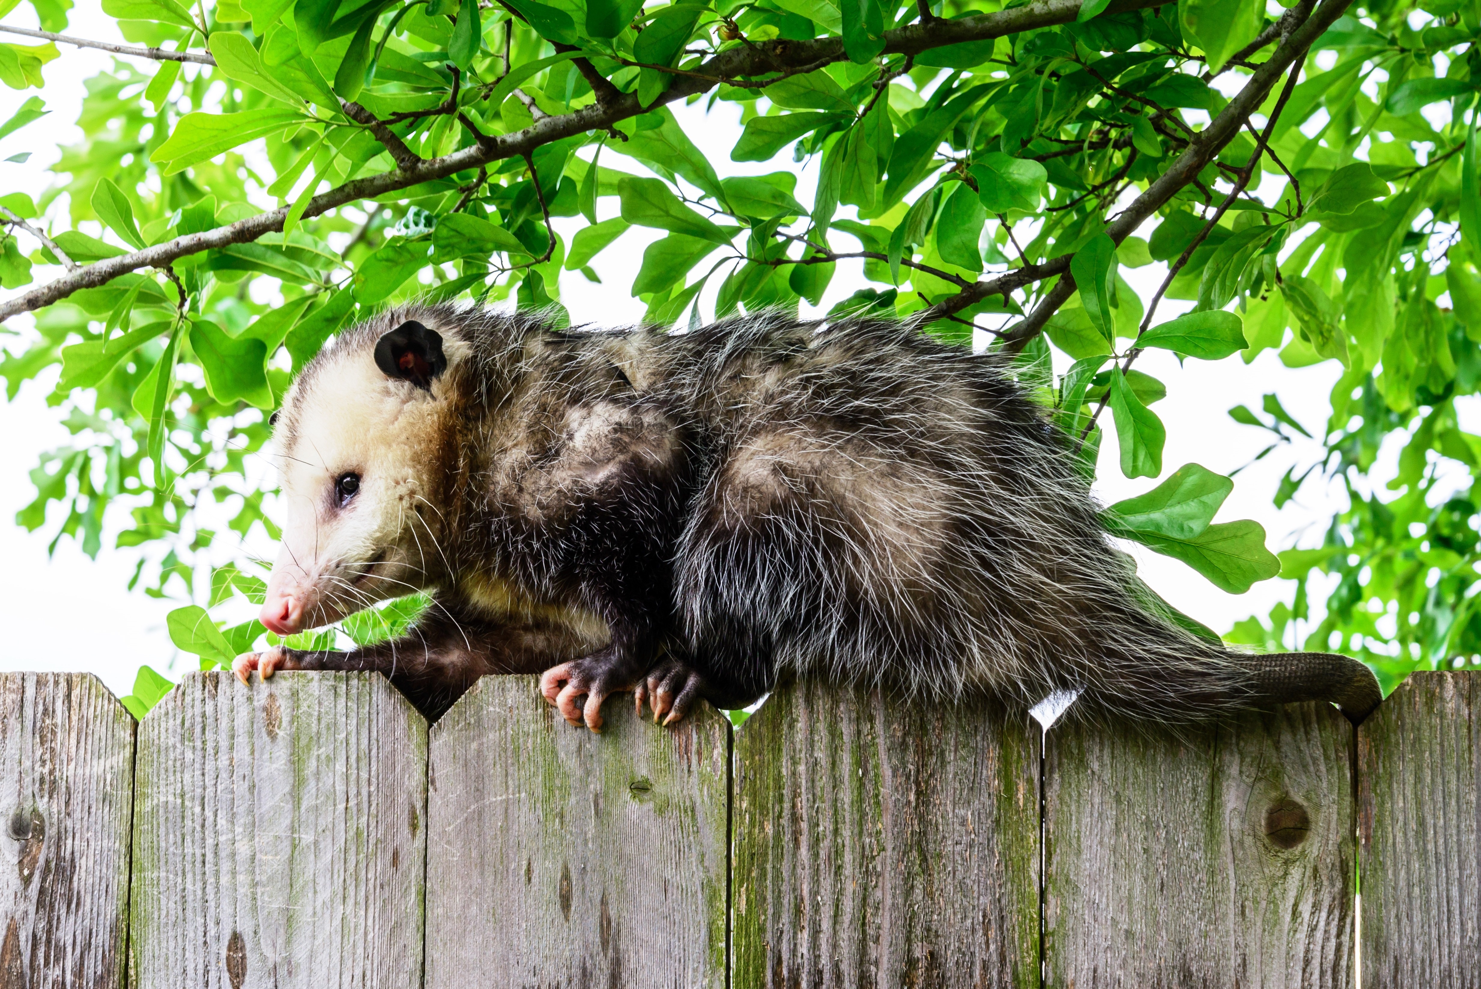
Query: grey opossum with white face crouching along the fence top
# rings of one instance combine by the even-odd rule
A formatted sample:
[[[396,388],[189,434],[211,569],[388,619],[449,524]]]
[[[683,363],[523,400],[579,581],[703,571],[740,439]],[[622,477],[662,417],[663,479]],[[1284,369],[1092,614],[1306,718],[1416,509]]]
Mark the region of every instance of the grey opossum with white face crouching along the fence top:
[[[1380,699],[1354,659],[1185,631],[1006,358],[895,321],[557,332],[400,306],[302,370],[274,443],[262,623],[432,604],[379,646],[240,656],[243,681],[382,671],[437,718],[484,674],[542,674],[592,730],[613,693],[671,724],[798,675],[1023,706],[1077,690],[1160,723]]]

